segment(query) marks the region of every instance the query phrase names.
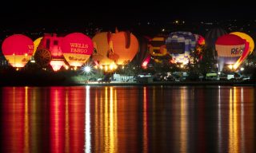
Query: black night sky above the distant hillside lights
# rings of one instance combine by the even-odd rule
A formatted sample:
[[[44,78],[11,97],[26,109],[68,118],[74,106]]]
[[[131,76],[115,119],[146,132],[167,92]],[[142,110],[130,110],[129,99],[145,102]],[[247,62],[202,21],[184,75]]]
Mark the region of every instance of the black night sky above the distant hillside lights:
[[[12,29],[36,27],[79,27],[88,22],[98,26],[129,26],[134,22],[184,20],[254,19],[253,5],[245,2],[186,1],[34,1],[1,5],[1,26]]]

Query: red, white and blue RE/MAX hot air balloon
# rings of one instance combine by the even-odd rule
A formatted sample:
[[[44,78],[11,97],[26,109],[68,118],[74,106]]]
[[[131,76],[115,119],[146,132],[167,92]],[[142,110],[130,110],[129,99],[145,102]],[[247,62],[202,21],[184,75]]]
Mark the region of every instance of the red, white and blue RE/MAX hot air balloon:
[[[246,48],[246,40],[234,34],[226,34],[218,37],[215,48],[218,53],[219,70],[222,71],[225,64],[234,65],[242,56]]]

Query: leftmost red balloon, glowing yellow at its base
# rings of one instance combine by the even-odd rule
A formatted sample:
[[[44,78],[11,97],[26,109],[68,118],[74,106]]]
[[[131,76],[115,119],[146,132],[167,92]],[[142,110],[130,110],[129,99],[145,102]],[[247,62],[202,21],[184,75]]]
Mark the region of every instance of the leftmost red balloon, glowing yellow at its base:
[[[2,42],[2,53],[10,65],[22,68],[34,53],[34,43],[30,37],[14,34]]]

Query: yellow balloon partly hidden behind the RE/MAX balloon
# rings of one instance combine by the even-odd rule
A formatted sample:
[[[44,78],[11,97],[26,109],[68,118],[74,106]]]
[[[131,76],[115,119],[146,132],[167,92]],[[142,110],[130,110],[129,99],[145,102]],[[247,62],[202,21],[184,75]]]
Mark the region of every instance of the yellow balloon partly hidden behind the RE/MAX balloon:
[[[246,45],[249,45],[247,48],[244,49],[242,56],[238,59],[238,61],[234,64],[234,68],[238,68],[239,65],[242,64],[242,61],[245,61],[246,57],[254,51],[254,40],[252,37],[247,35],[246,33],[241,32],[233,32],[230,34],[237,35],[239,37],[242,37],[242,39],[246,40]]]

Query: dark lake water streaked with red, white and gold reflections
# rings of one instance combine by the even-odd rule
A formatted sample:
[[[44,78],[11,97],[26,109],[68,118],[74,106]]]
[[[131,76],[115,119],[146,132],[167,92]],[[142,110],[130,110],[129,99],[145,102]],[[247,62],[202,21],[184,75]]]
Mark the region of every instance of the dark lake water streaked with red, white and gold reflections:
[[[1,152],[255,152],[255,88],[0,88]]]

